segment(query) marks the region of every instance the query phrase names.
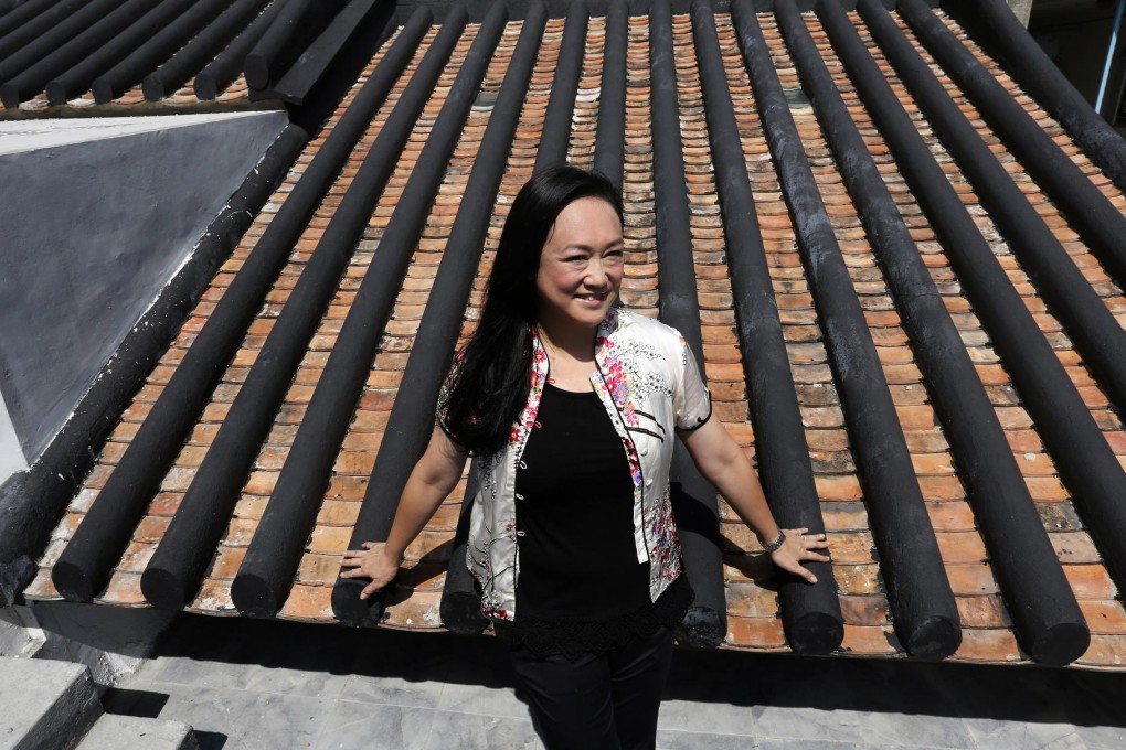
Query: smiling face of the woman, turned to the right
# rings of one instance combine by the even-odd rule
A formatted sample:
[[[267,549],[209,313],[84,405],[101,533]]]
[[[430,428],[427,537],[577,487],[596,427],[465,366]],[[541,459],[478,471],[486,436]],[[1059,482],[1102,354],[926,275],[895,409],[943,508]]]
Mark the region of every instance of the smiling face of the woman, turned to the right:
[[[555,219],[539,256],[536,307],[548,328],[597,327],[622,287],[622,223],[601,198],[580,198]]]

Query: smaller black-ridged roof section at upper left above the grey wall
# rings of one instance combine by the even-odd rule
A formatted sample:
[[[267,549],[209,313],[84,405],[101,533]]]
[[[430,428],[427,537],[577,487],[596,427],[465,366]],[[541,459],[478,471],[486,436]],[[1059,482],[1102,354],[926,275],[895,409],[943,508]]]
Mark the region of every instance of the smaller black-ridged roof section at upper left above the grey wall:
[[[301,103],[357,31],[385,21],[382,4],[27,0],[0,8],[0,116]]]

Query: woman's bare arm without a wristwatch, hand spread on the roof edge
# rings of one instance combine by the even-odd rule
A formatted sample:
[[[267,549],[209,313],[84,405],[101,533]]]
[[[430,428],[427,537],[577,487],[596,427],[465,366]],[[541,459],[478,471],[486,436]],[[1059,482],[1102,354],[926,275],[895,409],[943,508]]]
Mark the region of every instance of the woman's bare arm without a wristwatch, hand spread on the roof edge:
[[[426,453],[414,464],[386,542],[364,542],[363,550],[347,550],[341,566],[351,568],[341,578],[370,578],[359,598],[366,599],[391,582],[399,572],[406,546],[427,525],[438,506],[462,478],[466,454],[443,430],[435,427]]]

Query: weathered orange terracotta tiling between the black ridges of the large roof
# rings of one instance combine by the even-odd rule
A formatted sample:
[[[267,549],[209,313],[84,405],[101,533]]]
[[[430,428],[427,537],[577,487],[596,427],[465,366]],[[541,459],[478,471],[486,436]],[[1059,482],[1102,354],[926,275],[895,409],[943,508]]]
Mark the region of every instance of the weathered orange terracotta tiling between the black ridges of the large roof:
[[[951,19],[941,13],[939,17],[947,26],[958,30]],[[1120,668],[1121,660],[1126,656],[1126,611],[1121,602],[1116,598],[1118,590],[1107,572],[1102,555],[1080,521],[1082,516],[1076,512],[1069,489],[1058,477],[1055,461],[1046,452],[1037,426],[1025,410],[1006,363],[994,351],[989,334],[976,317],[944,247],[936,238],[933,228],[901,173],[890,144],[885,142],[865,103],[860,101],[820,20],[813,15],[805,15],[803,18],[817,44],[829,74],[848,107],[849,115],[884,177],[911,237],[918,244],[942,302],[957,326],[966,353],[974,363],[989,403],[1003,430],[1004,439],[1013,451],[1017,466],[1025,478],[1067,584],[1087,617],[1093,634],[1091,645],[1075,663],[1090,668]],[[1047,227],[1063,243],[1076,266],[1082,269],[1084,278],[1092,284],[1092,289],[1106,304],[1107,309],[1117,314],[1119,322],[1126,323],[1126,298],[1106,269],[1080,240],[1079,233],[1067,224],[1036,181],[1028,177],[1024,166],[1009,152],[1003,138],[993,133],[980,118],[975,107],[957,84],[945,76],[937,63],[930,60],[927,49],[914,38],[906,24],[894,13],[893,18],[899,25],[900,33],[923,55],[946,91],[971,117],[978,136],[989,144],[991,152],[1006,171],[1013,175],[1015,184],[1027,196]],[[1027,308],[1034,313],[1036,325],[1065,365],[1072,381],[1079,387],[1083,403],[1099,428],[1103,431],[1111,450],[1119,461],[1126,462],[1126,432],[1100,385],[1092,378],[1083,359],[1073,349],[1064,326],[1048,313],[1037,288],[1010,253],[1001,231],[993,225],[989,214],[981,207],[978,196],[971,189],[959,165],[949,156],[912,96],[899,81],[891,64],[884,60],[883,53],[872,39],[859,15],[851,13],[849,19],[885,73],[904,109],[912,114],[919,134],[989,241],[1013,288]],[[797,67],[790,61],[781,30],[770,15],[759,15],[759,20],[781,85],[796,89],[803,81]],[[792,225],[790,209],[780,187],[780,178],[772,161],[763,124],[759,118],[732,19],[727,15],[718,13],[715,16],[715,21],[727,87],[733,97],[735,123],[756,199],[767,264],[783,324],[816,494],[832,544],[833,576],[839,587],[844,622],[844,640],[840,652],[856,656],[903,657],[906,652],[893,627],[892,609],[881,570],[881,566],[886,562],[882,560],[881,550],[875,542],[868,508],[865,505],[865,489],[857,476],[852,459],[852,441],[829,365],[825,333],[815,311],[811,283]],[[275,416],[269,435],[258,452],[253,469],[242,488],[241,498],[235,505],[230,525],[220,542],[203,587],[188,607],[190,611],[206,614],[235,612],[230,593],[231,581],[268,506],[278,476],[289,458],[295,434],[301,427],[315,386],[321,379],[329,353],[336,345],[343,319],[355,301],[359,283],[372,259],[381,252],[379,242],[383,233],[418,162],[421,147],[430,135],[438,110],[450,91],[454,75],[465,60],[479,29],[476,25],[468,26],[458,40],[439,83],[431,92],[421,118],[402,150],[394,174],[373,209],[370,220],[351,255],[340,286],[294,373],[293,385],[285,396],[284,405]],[[561,51],[563,29],[562,19],[549,20],[545,27],[529,89],[524,98],[516,126],[508,169],[500,187],[497,208],[491,217],[484,253],[474,281],[474,292],[461,331],[463,342],[471,329],[472,320],[477,315],[483,280],[490,268],[507,206],[533,168]],[[519,21],[509,22],[506,27],[484,76],[483,88],[486,91],[500,88],[520,30]],[[220,385],[164,477],[160,494],[152,499],[145,517],[137,525],[109,587],[98,597],[99,602],[120,606],[144,605],[138,585],[140,573],[144,570],[155,544],[160,542],[163,530],[176,513],[184,493],[190,486],[207,449],[215,439],[218,426],[238,397],[248,369],[256,361],[258,351],[272,331],[274,322],[289,300],[298,277],[356,179],[363,157],[373,147],[375,137],[403,96],[405,87],[410,85],[411,75],[429,45],[434,43],[435,35],[436,29],[427,35],[415,51],[406,71],[372,119],[367,133],[354,148],[328,196],[320,201],[314,217],[295,242],[288,264],[247,329],[239,352],[223,371]],[[586,55],[571,120],[568,152],[572,163],[580,166],[590,166],[593,163],[602,53],[606,44],[606,19],[591,18],[587,30]],[[753,455],[756,435],[750,421],[744,356],[735,328],[731,271],[725,255],[727,243],[720,213],[720,196],[714,183],[715,172],[703,87],[697,69],[697,49],[688,16],[673,17],[673,44],[680,127],[685,146],[685,179],[688,187],[694,264],[700,304],[704,368],[716,415],[747,453]],[[1097,168],[1083,154],[1073,150],[1067,134],[1040,110],[1033,99],[1024,97],[1016,83],[1004,75],[972,40],[967,40],[966,46],[997,80],[1013,93],[1053,141],[1071,154],[1073,161],[1092,182],[1099,186],[1118,210],[1121,210],[1126,206],[1126,198],[1112,183],[1102,179]],[[368,65],[365,75],[338,107],[324,132],[305,148],[284,184],[275,191],[267,208],[259,214],[242,243],[216,274],[211,289],[203,296],[181,329],[180,336],[161,358],[160,364],[152,371],[144,388],[123,414],[122,422],[102,451],[97,468],[71,501],[66,516],[55,530],[54,541],[39,560],[39,575],[25,593],[29,598],[57,596],[51,584],[50,573],[52,564],[65,546],[65,541],[81,523],[83,514],[97,503],[99,489],[105,486],[115,464],[128,450],[138,425],[149,415],[152,404],[160,398],[186,351],[190,349],[195,337],[215,310],[216,302],[230,289],[258,238],[289,198],[313,155],[324,144],[332,125],[347,111],[359,85],[373,73],[386,49],[387,45],[384,45]],[[660,269],[653,251],[654,174],[650,129],[651,73],[647,17],[629,19],[627,49],[623,184],[626,196],[627,256],[622,300],[629,309],[655,316],[660,293]],[[462,192],[468,182],[468,174],[491,114],[491,108],[475,107],[461,133],[395,299],[393,313],[383,332],[366,387],[336,457],[331,481],[319,504],[315,526],[310,530],[307,544],[294,573],[294,585],[278,612],[279,617],[310,622],[333,621],[330,597],[339,570],[339,554],[347,548],[359,514],[383,432],[402,383],[403,370],[413,351],[419,319],[429,301],[437,265],[443,257],[454,218],[461,207]],[[950,658],[992,663],[1028,661],[1029,657],[1018,648],[1004,591],[992,568],[991,555],[978,528],[980,523],[973,506],[967,501],[967,488],[958,470],[957,457],[944,435],[941,421],[932,406],[930,387],[917,365],[913,344],[894,306],[894,295],[885,279],[884,265],[877,260],[876,252],[869,244],[858,208],[854,205],[844,180],[838,172],[838,165],[824,139],[815,110],[810,106],[796,106],[790,114],[840,243],[854,292],[864,309],[864,318],[875,344],[883,376],[888,383],[895,415],[910,452],[911,466],[933,527],[945,573],[954,591],[957,612],[962,620],[963,640],[960,648]],[[457,490],[409,548],[406,570],[397,582],[397,590],[388,602],[384,625],[405,629],[440,627],[438,616],[440,593],[445,582],[445,571],[450,564],[454,531],[464,491],[463,478]],[[720,513],[727,607],[727,638],[724,647],[785,650],[787,641],[779,614],[779,598],[772,580],[774,571],[765,563],[761,555],[753,554],[760,551],[761,546],[725,504],[721,504]]]

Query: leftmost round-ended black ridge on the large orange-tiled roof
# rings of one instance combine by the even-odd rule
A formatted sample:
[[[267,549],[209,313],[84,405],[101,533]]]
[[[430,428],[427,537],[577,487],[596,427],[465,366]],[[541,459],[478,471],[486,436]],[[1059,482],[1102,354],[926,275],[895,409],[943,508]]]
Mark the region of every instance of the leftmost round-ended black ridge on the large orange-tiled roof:
[[[285,266],[294,243],[367,128],[372,114],[410,62],[413,47],[404,45],[394,57],[388,54],[385,72],[378,72],[384,64],[376,69],[373,79],[378,83],[369,90],[366,108],[354,102],[349,111],[356,114],[340,119],[207,318],[55,564],[53,580],[65,598],[89,602],[105,587],[145,507]]]

